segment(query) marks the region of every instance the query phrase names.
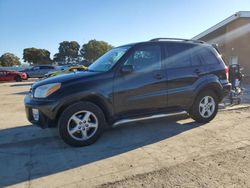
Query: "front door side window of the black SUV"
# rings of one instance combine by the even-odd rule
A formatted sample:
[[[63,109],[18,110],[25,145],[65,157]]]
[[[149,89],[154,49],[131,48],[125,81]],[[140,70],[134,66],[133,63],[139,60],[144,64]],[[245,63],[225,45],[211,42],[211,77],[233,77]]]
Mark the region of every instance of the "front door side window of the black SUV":
[[[147,72],[161,69],[161,47],[146,46],[135,50],[124,65],[133,65],[135,72]]]

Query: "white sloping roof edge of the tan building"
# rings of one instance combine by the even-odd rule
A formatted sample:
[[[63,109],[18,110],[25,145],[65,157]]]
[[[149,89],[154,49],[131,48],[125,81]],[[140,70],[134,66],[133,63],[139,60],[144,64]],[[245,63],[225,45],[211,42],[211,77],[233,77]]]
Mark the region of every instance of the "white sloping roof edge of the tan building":
[[[226,18],[225,20],[221,21],[220,23],[214,25],[213,27],[207,29],[206,31],[200,33],[199,35],[196,35],[195,37],[193,37],[193,40],[199,40],[202,37],[208,35],[209,33],[212,33],[213,31],[227,25],[228,23],[237,20],[238,18],[250,18],[250,11],[240,11],[240,12],[236,12],[234,15]]]

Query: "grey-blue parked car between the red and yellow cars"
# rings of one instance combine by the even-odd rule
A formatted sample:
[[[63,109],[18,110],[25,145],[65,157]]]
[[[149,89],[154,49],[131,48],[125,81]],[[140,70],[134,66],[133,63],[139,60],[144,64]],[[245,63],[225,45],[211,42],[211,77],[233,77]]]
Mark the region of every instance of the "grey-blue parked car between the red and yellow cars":
[[[28,78],[42,78],[45,74],[57,70],[56,66],[52,65],[38,65],[30,69],[25,69],[22,72],[27,74]]]

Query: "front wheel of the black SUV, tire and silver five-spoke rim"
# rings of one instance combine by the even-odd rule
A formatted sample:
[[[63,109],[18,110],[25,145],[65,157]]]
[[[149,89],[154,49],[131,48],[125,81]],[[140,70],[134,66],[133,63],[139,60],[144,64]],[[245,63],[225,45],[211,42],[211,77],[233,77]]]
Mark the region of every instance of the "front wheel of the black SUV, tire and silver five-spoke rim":
[[[66,144],[81,147],[96,142],[105,124],[104,114],[98,106],[91,102],[77,102],[63,111],[58,129]]]

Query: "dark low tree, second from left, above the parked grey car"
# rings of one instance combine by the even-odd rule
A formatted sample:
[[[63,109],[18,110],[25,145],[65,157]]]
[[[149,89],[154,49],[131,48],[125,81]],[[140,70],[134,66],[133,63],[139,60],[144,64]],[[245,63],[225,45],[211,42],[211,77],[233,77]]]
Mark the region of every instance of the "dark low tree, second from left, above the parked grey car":
[[[50,64],[50,52],[45,49],[25,48],[23,50],[23,60],[31,64]]]

